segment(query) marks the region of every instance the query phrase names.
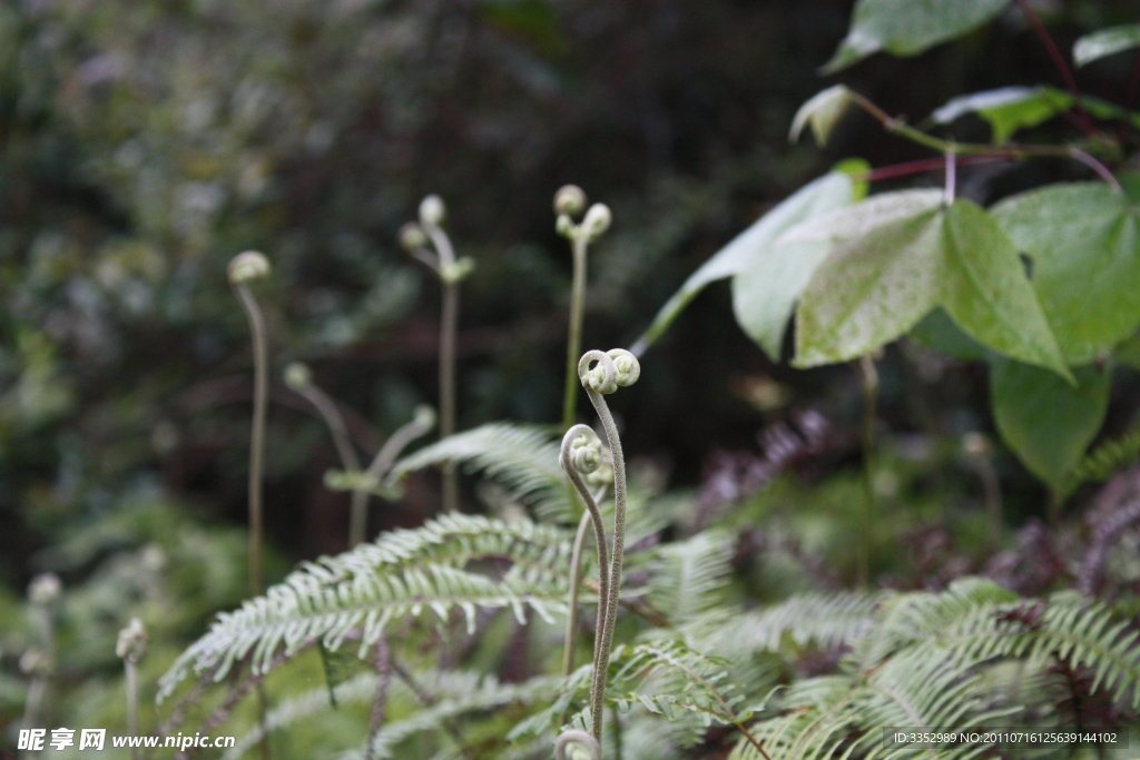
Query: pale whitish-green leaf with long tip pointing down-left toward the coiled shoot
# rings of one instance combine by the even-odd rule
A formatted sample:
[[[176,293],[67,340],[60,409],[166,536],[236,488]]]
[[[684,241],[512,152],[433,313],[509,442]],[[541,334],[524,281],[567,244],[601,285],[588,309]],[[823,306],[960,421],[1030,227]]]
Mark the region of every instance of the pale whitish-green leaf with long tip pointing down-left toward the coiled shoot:
[[[660,337],[677,318],[677,314],[709,283],[725,277],[740,276],[743,272],[760,272],[759,277],[766,277],[768,270],[772,269],[772,262],[783,259],[780,252],[773,250],[772,244],[776,238],[800,222],[817,219],[861,198],[866,193],[866,183],[858,181],[855,174],[866,169],[869,169],[868,165],[862,161],[844,162],[834,171],[800,188],[730,240],[693,272],[681,286],[681,289],[661,307],[649,329],[630,349],[633,353],[641,354]],[[789,255],[788,258],[790,260],[784,262],[784,271],[790,272],[790,275],[783,284],[779,287],[776,285],[750,287],[747,297],[734,299],[734,305],[738,307],[738,321],[754,340],[760,342],[760,345],[776,359],[780,357],[780,343],[783,340],[783,330],[788,319],[791,317],[792,304],[817,263],[817,261],[812,261],[811,256]],[[804,270],[807,272],[806,276],[801,273]],[[797,272],[799,272],[798,276]],[[788,291],[782,288],[795,287],[797,278],[804,281],[789,296]]]

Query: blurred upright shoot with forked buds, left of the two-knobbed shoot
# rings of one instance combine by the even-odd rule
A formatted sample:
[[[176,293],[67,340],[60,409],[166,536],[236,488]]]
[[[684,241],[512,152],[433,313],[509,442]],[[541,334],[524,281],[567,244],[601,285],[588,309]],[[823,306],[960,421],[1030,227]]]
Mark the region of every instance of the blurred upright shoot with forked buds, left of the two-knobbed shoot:
[[[455,333],[459,319],[459,283],[474,269],[474,261],[456,260],[451,240],[441,224],[447,207],[438,195],[420,203],[420,223],[409,222],[400,230],[400,245],[425,263],[443,286],[443,305],[439,328],[439,436],[455,433]],[[427,246],[434,248],[430,251]],[[443,465],[443,510],[459,508],[455,464]]]

